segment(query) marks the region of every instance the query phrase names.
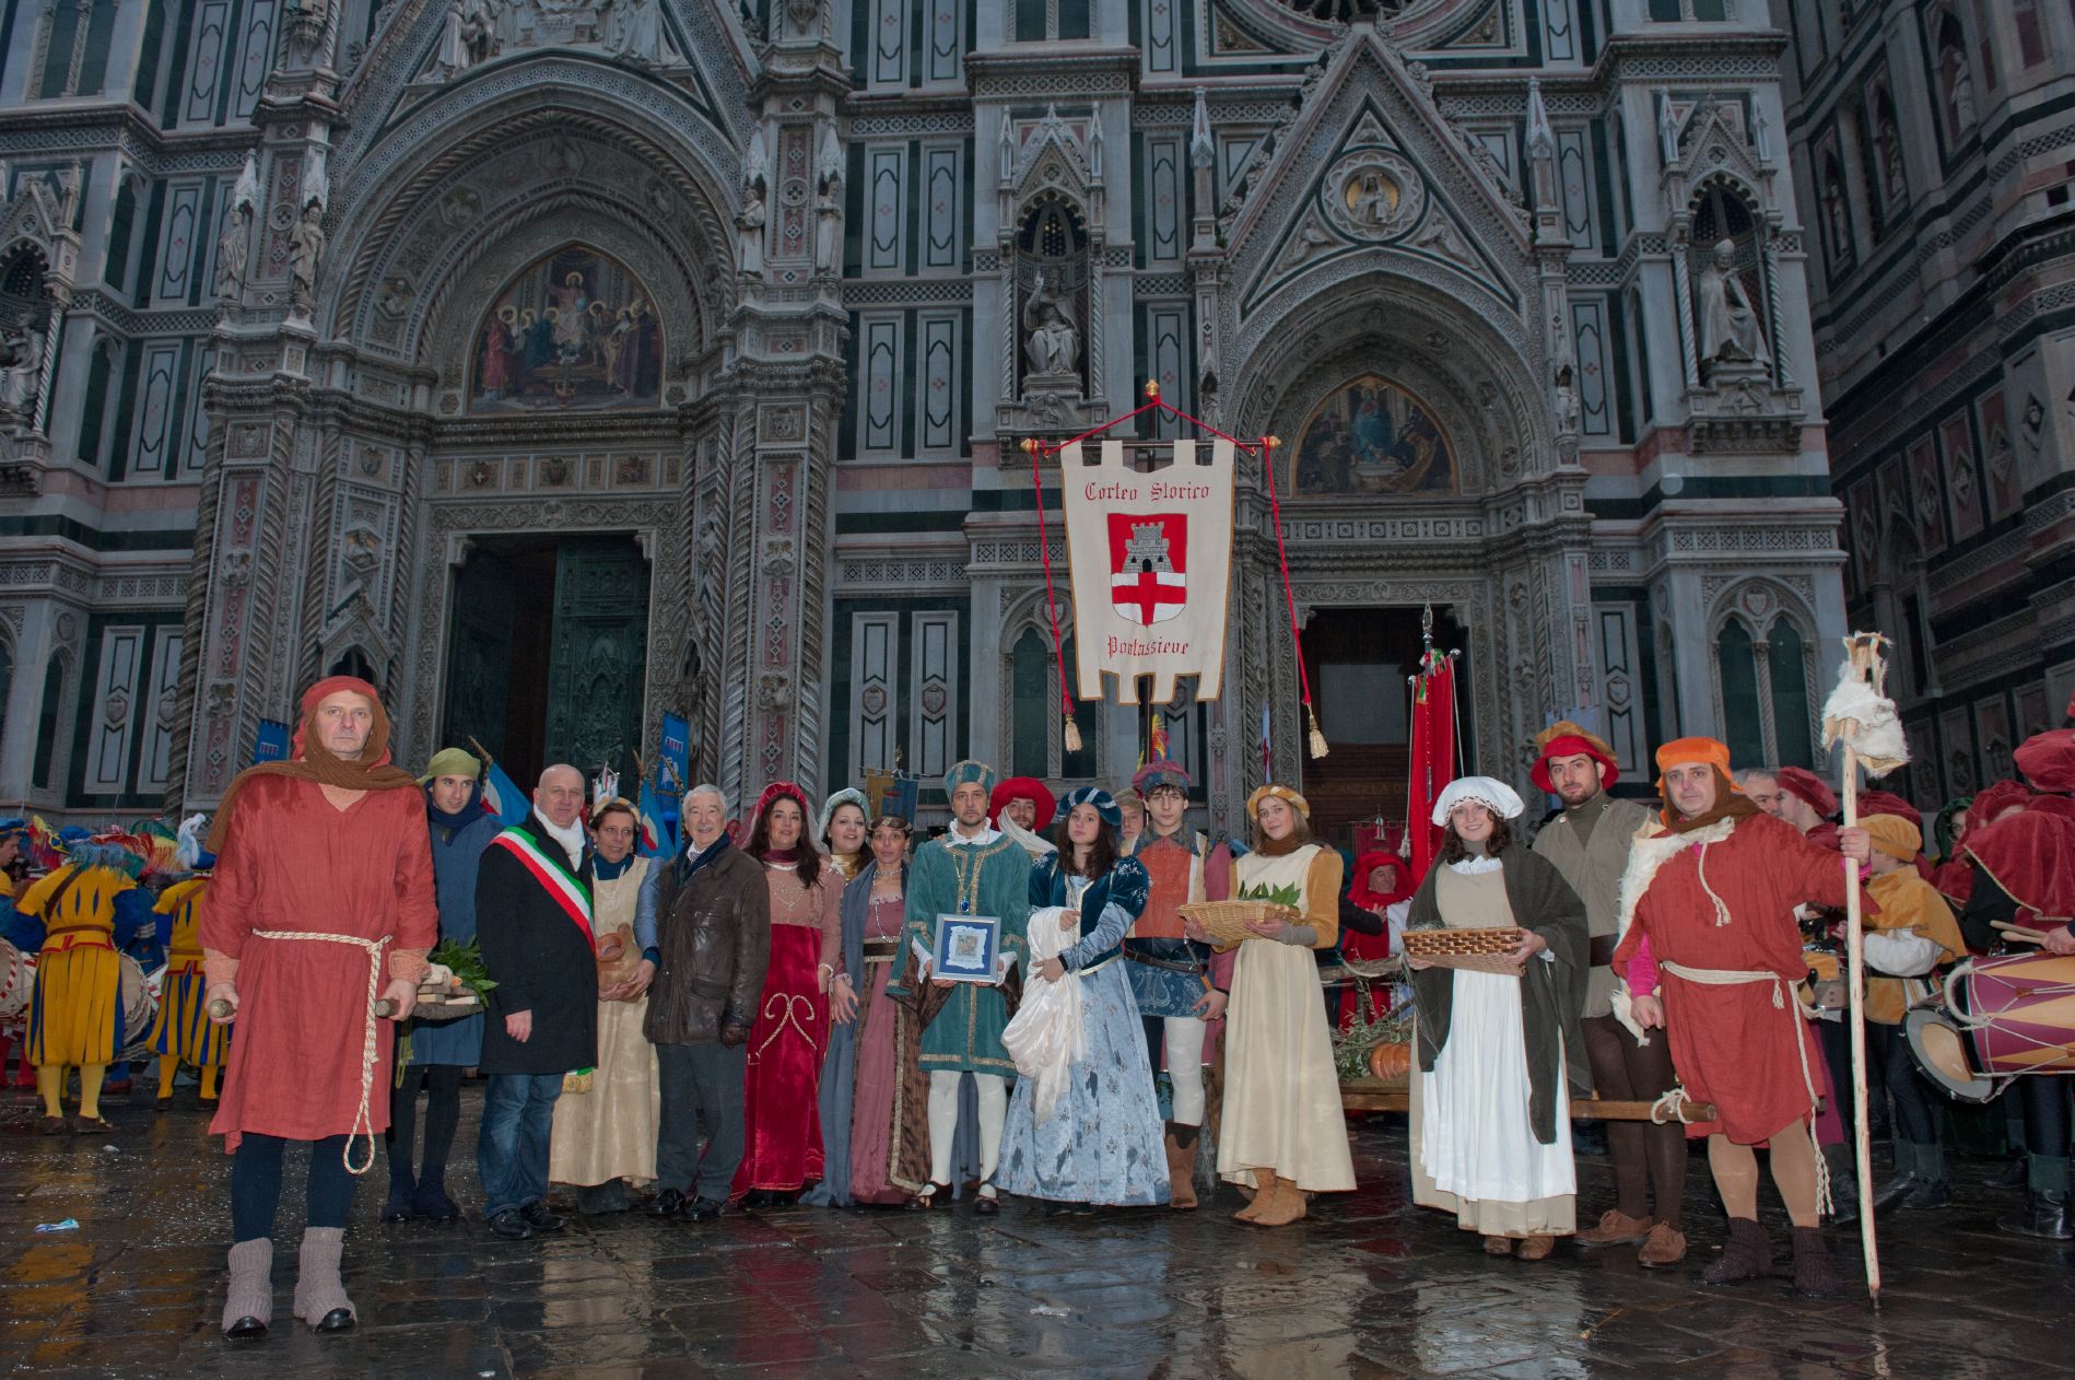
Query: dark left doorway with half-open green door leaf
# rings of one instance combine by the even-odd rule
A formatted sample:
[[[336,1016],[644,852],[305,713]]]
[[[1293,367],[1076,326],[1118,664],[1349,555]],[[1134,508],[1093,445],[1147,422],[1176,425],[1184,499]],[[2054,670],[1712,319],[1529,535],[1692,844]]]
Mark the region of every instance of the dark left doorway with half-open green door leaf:
[[[442,745],[521,786],[550,762],[633,772],[649,569],[633,535],[475,537],[454,575]]]

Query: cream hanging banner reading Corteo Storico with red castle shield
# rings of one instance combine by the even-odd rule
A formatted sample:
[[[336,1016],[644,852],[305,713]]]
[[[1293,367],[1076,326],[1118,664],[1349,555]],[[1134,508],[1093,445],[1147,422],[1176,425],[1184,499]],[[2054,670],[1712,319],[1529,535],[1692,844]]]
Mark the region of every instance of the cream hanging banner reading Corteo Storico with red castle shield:
[[[1116,677],[1116,703],[1139,701],[1152,677],[1154,703],[1174,697],[1174,679],[1197,677],[1197,699],[1216,699],[1224,679],[1226,591],[1233,573],[1233,442],[1177,440],[1174,463],[1141,473],[1116,440],[1089,463],[1083,446],[1060,450],[1067,560],[1073,571],[1075,683],[1079,699],[1102,699]]]

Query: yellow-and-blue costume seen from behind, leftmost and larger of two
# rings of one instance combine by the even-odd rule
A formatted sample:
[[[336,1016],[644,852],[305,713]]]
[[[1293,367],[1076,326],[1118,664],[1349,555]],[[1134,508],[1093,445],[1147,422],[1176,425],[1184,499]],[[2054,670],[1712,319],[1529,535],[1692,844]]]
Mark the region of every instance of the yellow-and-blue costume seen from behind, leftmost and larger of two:
[[[29,1006],[29,1062],[44,1098],[44,1129],[62,1129],[58,1096],[66,1067],[79,1069],[79,1119],[85,1129],[100,1121],[102,1075],[122,1048],[122,967],[116,928],[133,930],[135,892],[125,872],[66,863],[31,886],[15,909],[44,923],[44,948],[35,959],[35,998]],[[129,934],[122,934],[129,938]]]

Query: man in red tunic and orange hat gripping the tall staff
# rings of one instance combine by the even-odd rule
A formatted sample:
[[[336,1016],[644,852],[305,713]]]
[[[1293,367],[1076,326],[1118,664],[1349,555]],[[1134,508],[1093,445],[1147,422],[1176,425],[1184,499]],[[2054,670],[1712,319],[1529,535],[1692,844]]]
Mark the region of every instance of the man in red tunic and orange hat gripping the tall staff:
[[[1795,1289],[1834,1297],[1843,1280],[1818,1229],[1811,1127],[1822,1052],[1795,998],[1807,965],[1793,911],[1845,905],[1845,870],[1737,791],[1722,743],[1666,743],[1658,770],[1664,813],[1629,851],[1614,971],[1627,975],[1635,1021],[1666,1029],[1687,1096],[1716,1110],[1716,1121],[1687,1127],[1708,1137],[1708,1168],[1728,1208],[1728,1249],[1702,1278],[1731,1285],[1772,1270],[1753,1156],[1768,1146],[1793,1218]],[[1859,863],[1870,855],[1859,828],[1843,830],[1838,847]]]

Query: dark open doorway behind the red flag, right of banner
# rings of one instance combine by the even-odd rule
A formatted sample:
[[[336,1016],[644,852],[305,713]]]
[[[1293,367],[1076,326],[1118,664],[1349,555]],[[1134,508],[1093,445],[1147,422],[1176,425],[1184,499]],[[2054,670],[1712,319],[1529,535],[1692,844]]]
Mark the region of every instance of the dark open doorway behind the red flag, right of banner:
[[[1461,625],[1434,610],[1434,645],[1465,645]],[[1303,764],[1303,793],[1311,803],[1311,832],[1332,843],[1353,843],[1355,824],[1384,816],[1405,818],[1411,770],[1411,691],[1407,677],[1419,666],[1417,608],[1326,608],[1303,631],[1303,660],[1311,701],[1330,751]],[[1457,660],[1457,703],[1469,703]],[[1299,708],[1301,714],[1301,708]],[[1467,733],[1467,716],[1461,730]]]

